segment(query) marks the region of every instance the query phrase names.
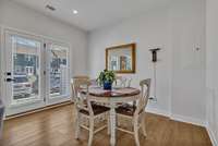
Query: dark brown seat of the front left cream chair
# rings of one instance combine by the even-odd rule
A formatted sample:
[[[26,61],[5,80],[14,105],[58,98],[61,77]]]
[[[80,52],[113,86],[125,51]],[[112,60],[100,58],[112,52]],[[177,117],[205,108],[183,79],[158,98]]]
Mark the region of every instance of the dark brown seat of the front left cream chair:
[[[94,115],[97,115],[97,114],[100,114],[100,113],[104,113],[104,112],[110,110],[110,108],[107,108],[107,107],[100,106],[100,105],[96,105],[96,104],[93,104],[92,107],[93,107]],[[80,112],[83,114],[89,115],[89,111],[87,111],[87,110],[81,109]]]

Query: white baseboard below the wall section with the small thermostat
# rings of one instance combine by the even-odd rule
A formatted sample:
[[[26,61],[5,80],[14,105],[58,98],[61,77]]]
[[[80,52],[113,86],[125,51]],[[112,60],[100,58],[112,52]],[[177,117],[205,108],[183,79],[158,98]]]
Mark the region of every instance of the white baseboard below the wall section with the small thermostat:
[[[191,124],[194,124],[194,125],[206,126],[205,121],[202,121],[199,119],[190,118],[190,117],[171,114],[170,119],[174,120],[174,121],[184,122],[184,123],[191,123]]]

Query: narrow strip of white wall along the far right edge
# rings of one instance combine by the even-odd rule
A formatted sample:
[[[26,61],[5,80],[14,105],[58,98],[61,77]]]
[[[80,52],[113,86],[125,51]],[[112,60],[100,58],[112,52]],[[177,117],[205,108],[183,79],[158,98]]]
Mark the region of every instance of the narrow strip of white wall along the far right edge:
[[[207,121],[218,145],[218,1],[207,0]],[[216,145],[215,144],[215,145]]]

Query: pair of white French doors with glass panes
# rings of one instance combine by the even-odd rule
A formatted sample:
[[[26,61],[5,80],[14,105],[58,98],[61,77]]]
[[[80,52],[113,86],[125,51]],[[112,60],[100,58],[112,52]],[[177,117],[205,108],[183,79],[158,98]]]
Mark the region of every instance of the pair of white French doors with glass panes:
[[[69,47],[4,29],[7,115],[70,99]]]

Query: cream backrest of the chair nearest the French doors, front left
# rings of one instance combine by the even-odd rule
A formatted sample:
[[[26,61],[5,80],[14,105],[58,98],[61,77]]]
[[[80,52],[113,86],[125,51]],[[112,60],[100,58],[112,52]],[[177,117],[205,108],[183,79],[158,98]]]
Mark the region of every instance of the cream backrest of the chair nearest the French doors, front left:
[[[71,86],[72,86],[72,93],[75,98],[76,108],[87,110],[86,98],[88,95],[89,85],[90,85],[90,82],[86,77],[85,78],[73,77],[73,82],[71,83]],[[84,93],[86,94],[82,94],[81,93],[82,90],[84,90]]]

